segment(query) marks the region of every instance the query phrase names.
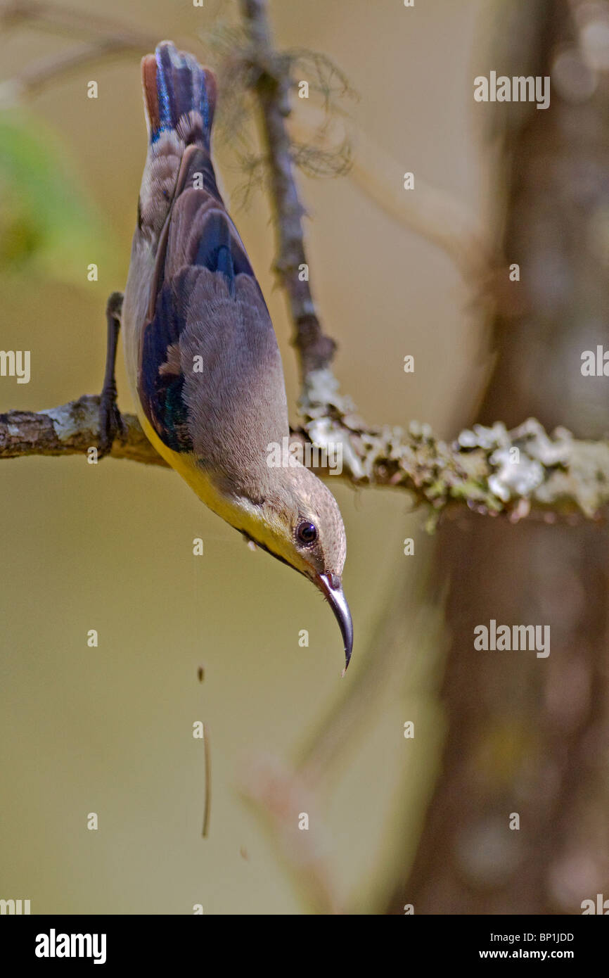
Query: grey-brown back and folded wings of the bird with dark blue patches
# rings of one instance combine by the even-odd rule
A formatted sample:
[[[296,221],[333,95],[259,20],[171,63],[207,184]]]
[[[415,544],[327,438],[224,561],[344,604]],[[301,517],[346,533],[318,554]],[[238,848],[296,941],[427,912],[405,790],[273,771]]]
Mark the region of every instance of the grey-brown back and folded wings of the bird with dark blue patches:
[[[210,469],[242,472],[287,435],[282,360],[215,185],[215,193],[194,189],[206,155],[196,147],[187,155],[158,248],[138,393],[165,445],[194,453]]]

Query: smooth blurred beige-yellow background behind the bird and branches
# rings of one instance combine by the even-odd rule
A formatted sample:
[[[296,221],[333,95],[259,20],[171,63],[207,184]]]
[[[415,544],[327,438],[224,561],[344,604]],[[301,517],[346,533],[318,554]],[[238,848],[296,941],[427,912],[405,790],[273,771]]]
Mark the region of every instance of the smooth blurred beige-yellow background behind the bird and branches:
[[[90,0],[71,6],[99,13]],[[271,5],[281,47],[322,51],[345,71],[360,95],[349,111],[379,153],[451,194],[474,220],[486,208],[488,181],[471,98],[483,7],[479,0],[413,9],[401,0]],[[232,11],[211,0],[203,9],[187,0],[139,0],[128,9],[109,0],[104,8],[201,59],[199,38]],[[69,44],[27,27],[5,31],[3,76]],[[97,100],[86,98],[90,79],[99,83]],[[65,269],[64,282],[3,274],[0,346],[31,350],[31,381],[0,378],[0,411],[50,408],[101,388],[105,302],[124,285],[146,152],[139,58],[62,77],[26,111],[62,144],[107,240],[97,283],[86,281],[87,264],[99,260],[94,247]],[[230,198],[242,183],[230,147],[218,147],[216,163]],[[339,344],[342,390],[370,422],[415,418],[454,435],[476,404],[486,366],[484,324],[455,264],[349,177],[301,178],[300,186],[312,285]],[[270,273],[266,196],[256,192],[233,216],[279,335],[295,421],[295,363]],[[413,375],[403,371],[409,353]],[[119,360],[119,405],[132,410]],[[174,473],[115,460],[30,458],[5,462],[0,477],[0,896],[30,899],[32,912],[191,913],[194,904],[205,913],[315,911],[276,829],[239,786],[261,756],[289,766],[315,737],[380,641],[396,581],[408,605],[426,572],[424,513],[411,513],[401,494],[330,485],[347,527],[344,583],[356,636],[341,680],[340,640],[326,605],[282,564],[251,554]],[[198,536],[201,557],[192,554]],[[405,537],[415,541],[413,557],[403,555]],[[432,631],[434,613],[431,604],[423,630],[426,622]],[[392,854],[405,839],[416,843],[442,739],[434,692],[442,647],[420,641],[416,615],[405,622],[410,678],[385,689],[378,709],[350,733],[311,822],[340,904],[357,912],[384,911],[395,883]],[[87,646],[93,628],[98,648]],[[303,628],[308,648],[298,645]],[[204,840],[197,720],[208,726],[212,762]],[[417,725],[414,740],[403,736],[407,720]],[[398,811],[406,814],[398,817],[405,785],[407,804]],[[303,809],[292,802],[296,819]],[[87,829],[90,812],[98,831]]]

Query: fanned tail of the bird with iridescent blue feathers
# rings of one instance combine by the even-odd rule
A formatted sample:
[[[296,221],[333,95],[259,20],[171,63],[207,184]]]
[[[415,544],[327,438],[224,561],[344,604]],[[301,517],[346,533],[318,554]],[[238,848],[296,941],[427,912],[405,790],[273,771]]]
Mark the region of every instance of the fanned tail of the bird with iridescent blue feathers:
[[[161,41],[142,60],[142,83],[151,143],[162,132],[175,130],[187,146],[209,150],[216,106],[213,72],[171,41]]]

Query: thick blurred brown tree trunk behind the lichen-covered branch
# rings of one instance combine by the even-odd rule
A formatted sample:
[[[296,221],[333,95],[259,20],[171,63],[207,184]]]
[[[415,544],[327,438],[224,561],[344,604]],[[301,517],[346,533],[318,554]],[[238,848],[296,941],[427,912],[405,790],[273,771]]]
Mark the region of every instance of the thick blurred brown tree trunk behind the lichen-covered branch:
[[[504,272],[498,359],[478,421],[533,415],[599,437],[609,378],[584,378],[581,355],[609,348],[609,85],[607,61],[595,71],[584,44],[602,38],[609,10],[567,0],[508,8],[502,50],[472,76],[551,75],[551,102],[545,111],[474,104],[504,122],[502,247],[521,276],[510,283]],[[596,34],[585,15],[597,18]],[[600,525],[473,513],[441,528],[449,733],[390,912],[579,913],[583,900],[609,897],[608,542]],[[549,656],[474,650],[474,627],[491,619],[549,625]]]

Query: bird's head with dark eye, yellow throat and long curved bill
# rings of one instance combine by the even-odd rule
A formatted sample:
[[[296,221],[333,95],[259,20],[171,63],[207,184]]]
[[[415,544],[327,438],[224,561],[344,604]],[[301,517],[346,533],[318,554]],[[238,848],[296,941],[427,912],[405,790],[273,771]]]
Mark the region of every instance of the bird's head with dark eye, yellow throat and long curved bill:
[[[353,647],[353,623],[342,591],[347,539],[340,510],[331,492],[309,468],[296,464],[269,472],[264,498],[241,500],[246,525],[239,528],[322,592],[340,626],[346,669]]]

